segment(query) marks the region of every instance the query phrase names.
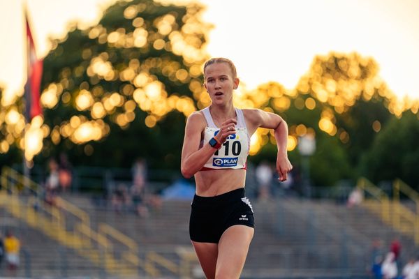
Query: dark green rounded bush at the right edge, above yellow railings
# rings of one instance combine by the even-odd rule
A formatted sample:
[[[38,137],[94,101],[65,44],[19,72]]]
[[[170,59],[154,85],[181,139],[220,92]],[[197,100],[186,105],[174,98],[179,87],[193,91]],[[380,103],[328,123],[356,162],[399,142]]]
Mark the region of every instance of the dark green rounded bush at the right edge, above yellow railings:
[[[407,111],[400,119],[392,119],[363,156],[361,174],[374,183],[399,178],[419,190],[418,138],[418,112]]]

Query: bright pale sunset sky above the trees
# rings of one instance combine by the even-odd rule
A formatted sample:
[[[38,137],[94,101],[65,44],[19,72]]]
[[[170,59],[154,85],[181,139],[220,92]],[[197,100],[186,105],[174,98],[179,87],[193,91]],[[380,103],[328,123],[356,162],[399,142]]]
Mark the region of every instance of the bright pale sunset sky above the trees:
[[[95,24],[115,0],[0,0],[0,86],[23,90],[26,78],[22,7],[29,7],[38,56],[66,24]],[[186,1],[184,1],[186,2]],[[214,24],[207,52],[232,59],[243,84],[276,81],[292,89],[317,54],[372,56],[397,96],[419,98],[417,0],[200,0]]]

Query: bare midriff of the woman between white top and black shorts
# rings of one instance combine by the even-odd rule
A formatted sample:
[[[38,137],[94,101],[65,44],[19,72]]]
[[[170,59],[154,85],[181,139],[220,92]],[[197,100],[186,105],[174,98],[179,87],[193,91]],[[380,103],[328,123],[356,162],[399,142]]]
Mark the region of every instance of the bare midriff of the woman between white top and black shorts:
[[[243,188],[246,169],[214,169],[195,174],[196,195],[214,197]]]

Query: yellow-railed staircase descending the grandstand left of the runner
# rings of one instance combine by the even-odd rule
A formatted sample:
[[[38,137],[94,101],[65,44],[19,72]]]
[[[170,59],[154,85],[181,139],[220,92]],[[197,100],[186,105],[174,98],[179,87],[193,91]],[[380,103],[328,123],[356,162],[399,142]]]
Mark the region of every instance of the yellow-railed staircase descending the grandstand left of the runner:
[[[41,206],[42,203],[39,200],[41,186],[10,167],[3,167],[0,182],[3,189],[0,192],[0,205],[6,206],[13,216],[25,220],[32,227],[42,230],[65,246],[77,250],[80,255],[87,257],[91,262],[104,264],[105,268],[112,273],[135,275],[138,268],[141,268],[149,276],[155,278],[160,276],[155,264],[177,275],[181,270],[182,273],[188,272],[185,271],[185,266],[179,267],[153,251],[147,253],[146,261],[143,262],[138,257],[138,244],[133,239],[103,223],[98,225],[96,232],[91,229],[89,214],[61,197],[57,197],[54,206]],[[26,203],[21,202],[19,197],[19,193],[22,193],[25,188],[36,193],[35,197],[29,195]],[[36,211],[36,206],[38,206],[38,211],[42,209],[45,214]],[[73,227],[66,223],[66,216],[67,218],[73,216],[76,219]],[[119,260],[113,255],[115,252],[113,243],[119,243],[118,247],[124,248]]]

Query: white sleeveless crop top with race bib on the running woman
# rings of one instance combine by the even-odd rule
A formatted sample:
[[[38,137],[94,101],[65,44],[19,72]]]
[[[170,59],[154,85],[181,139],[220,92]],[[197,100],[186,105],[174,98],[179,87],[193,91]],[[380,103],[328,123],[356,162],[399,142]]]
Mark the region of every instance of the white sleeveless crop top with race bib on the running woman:
[[[235,111],[237,114],[237,125],[235,126],[236,133],[227,138],[226,142],[221,145],[221,148],[211,156],[210,160],[208,160],[200,170],[246,168],[247,156],[249,155],[250,136],[247,132],[242,110],[236,108]],[[215,123],[212,120],[210,108],[205,107],[202,112],[207,121],[207,127],[205,128],[204,140],[201,142],[201,146],[207,144],[220,130],[215,126]]]

